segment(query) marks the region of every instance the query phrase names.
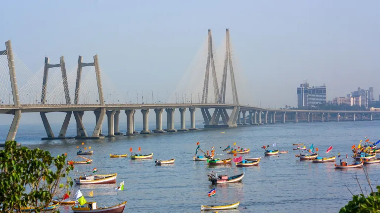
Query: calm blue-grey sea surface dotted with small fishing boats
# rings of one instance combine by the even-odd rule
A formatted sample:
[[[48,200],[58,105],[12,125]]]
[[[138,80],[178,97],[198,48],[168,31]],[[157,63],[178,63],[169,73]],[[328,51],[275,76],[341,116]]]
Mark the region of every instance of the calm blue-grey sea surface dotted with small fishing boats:
[[[369,188],[363,170],[338,171],[334,169],[333,163],[300,162],[294,156],[298,151],[292,150],[292,143],[303,142],[308,147],[313,143],[319,148],[320,156],[337,155],[338,152],[344,157],[346,153],[350,156],[350,147],[358,144],[365,136],[372,142],[380,139],[379,124],[380,121],[268,124],[225,130],[118,136],[94,141],[41,141],[41,137],[46,137],[41,124],[20,126],[17,141],[31,148],[49,150],[52,155],[67,152],[68,159],[76,157],[76,146],[85,142],[86,146],[91,146],[94,150],[94,155],[91,156],[94,162],[90,165],[76,165],[75,171],[96,167],[99,174],[117,173],[117,184],[124,181],[125,191],[115,191],[117,184],[75,185],[73,193],[81,189],[87,196],[93,190],[94,198],[87,196],[86,199],[95,200],[98,206],[127,201],[124,212],[193,213],[199,212],[201,205],[212,205],[216,198],[217,204],[240,201],[237,210],[223,212],[336,213],[352,198],[344,184],[355,194],[360,192],[354,179],[356,173],[363,185]],[[8,128],[9,126],[0,126],[1,137],[6,136]],[[53,129],[55,133],[59,132],[59,126],[53,126]],[[103,125],[103,134],[106,134],[105,129]],[[73,126],[68,133],[75,133]],[[200,142],[203,150],[215,146],[218,155],[223,154],[220,147],[237,142],[238,146],[251,149],[243,157],[262,157],[262,161],[259,167],[236,168],[232,165],[210,168],[207,162],[192,161],[196,142]],[[279,157],[265,157],[260,147],[273,143],[277,143],[279,149],[288,149],[289,153]],[[330,145],[332,151],[325,154]],[[153,159],[133,161],[130,158],[109,157],[110,153],[129,154],[130,147],[137,150],[139,146],[143,153],[153,152]],[[218,157],[222,159],[229,156]],[[176,159],[174,165],[154,164],[155,159],[171,158]],[[376,184],[380,176],[380,164],[369,165],[367,169]],[[213,186],[207,180],[207,173],[213,170],[228,170],[229,175],[244,172],[245,176],[241,183]],[[207,192],[214,187],[216,196],[208,198]],[[71,209],[62,207],[61,212],[71,212]]]

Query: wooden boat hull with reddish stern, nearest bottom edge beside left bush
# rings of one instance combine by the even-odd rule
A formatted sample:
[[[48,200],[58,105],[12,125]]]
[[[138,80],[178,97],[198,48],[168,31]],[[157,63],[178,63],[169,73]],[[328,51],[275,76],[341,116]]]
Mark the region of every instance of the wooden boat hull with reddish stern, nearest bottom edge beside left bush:
[[[122,213],[127,201],[111,207],[97,208],[96,202],[87,202],[85,205],[71,207],[74,213]]]

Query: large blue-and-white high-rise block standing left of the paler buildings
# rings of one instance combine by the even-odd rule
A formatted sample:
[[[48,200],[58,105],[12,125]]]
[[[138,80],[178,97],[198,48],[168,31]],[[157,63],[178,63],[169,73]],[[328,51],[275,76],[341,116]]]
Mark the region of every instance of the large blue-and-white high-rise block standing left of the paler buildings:
[[[297,87],[297,99],[298,108],[326,103],[326,85],[309,87],[307,81],[304,81]]]

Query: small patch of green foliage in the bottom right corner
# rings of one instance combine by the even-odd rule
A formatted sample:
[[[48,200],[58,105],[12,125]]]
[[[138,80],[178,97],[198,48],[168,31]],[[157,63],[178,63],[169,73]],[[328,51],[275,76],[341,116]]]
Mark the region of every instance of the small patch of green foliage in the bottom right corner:
[[[339,213],[379,213],[380,212],[380,186],[377,192],[372,192],[368,197],[363,194],[354,195],[352,201],[340,209]]]

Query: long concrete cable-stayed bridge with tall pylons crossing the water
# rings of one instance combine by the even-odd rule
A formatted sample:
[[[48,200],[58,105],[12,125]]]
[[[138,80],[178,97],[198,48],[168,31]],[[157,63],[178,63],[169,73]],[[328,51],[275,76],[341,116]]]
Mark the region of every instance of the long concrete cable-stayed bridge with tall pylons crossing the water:
[[[140,134],[196,130],[196,108],[199,108],[202,113],[205,128],[274,124],[277,123],[276,118],[281,123],[285,123],[286,115],[289,116],[289,114],[294,122],[298,122],[300,115],[307,122],[313,122],[313,118],[324,122],[329,119],[346,121],[348,116],[353,121],[356,118],[373,120],[372,115],[380,113],[379,111],[273,109],[241,104],[241,96],[238,94],[248,91],[240,91],[242,88],[239,88],[237,83],[240,83],[241,79],[237,80],[237,73],[234,71],[235,61],[229,29],[226,30],[225,46],[221,50],[223,54],[217,54],[223,58],[217,59],[215,56],[211,30],[208,31],[206,40],[206,45],[204,45],[206,47],[204,52],[207,53],[206,61],[200,64],[195,63],[201,68],[196,68],[202,71],[201,81],[199,74],[194,75],[193,71],[188,71],[176,89],[179,92],[175,93],[175,101],[173,95],[172,100],[169,97],[167,101],[161,102],[157,97],[154,102],[152,91],[151,104],[148,104],[150,103],[149,93],[145,94],[146,102],[144,94],[141,94],[141,103],[137,94],[135,103],[128,93],[124,95],[118,92],[115,85],[110,83],[106,76],[101,75],[97,55],[89,63],[84,63],[83,57],[79,56],[77,66],[68,72],[63,56],[59,58],[57,64],[50,64],[49,58],[45,58],[44,66],[36,73],[32,73],[13,53],[11,41],[6,41],[5,50],[0,51],[0,113],[14,115],[6,141],[15,139],[21,114],[26,112],[40,113],[47,133],[47,138],[43,140],[65,139],[72,115],[77,126],[76,139],[103,138],[101,126],[105,116],[107,116],[108,127],[108,135],[105,137],[122,135],[119,130],[119,114],[122,110],[127,115],[127,136],[138,133],[135,131],[136,110],[142,112],[143,130]],[[202,82],[203,85],[196,85],[194,82]],[[181,90],[182,95],[180,95]],[[121,100],[123,96],[125,101]],[[190,128],[185,125],[187,108],[190,111]],[[156,115],[156,128],[153,131],[148,128],[148,113],[151,109]],[[162,125],[164,109],[167,116],[166,129],[163,129]],[[181,129],[178,130],[174,128],[176,109],[179,109],[181,118]],[[92,134],[88,134],[83,125],[82,118],[85,111],[95,113],[96,125]],[[50,128],[46,116],[48,112],[66,113],[58,136],[55,136]]]

